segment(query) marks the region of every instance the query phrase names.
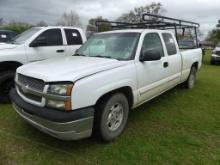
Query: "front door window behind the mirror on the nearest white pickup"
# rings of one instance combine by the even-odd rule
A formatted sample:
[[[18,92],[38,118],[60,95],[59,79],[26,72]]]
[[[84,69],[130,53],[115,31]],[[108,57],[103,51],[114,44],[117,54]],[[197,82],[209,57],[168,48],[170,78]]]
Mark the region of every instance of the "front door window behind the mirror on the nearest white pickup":
[[[159,53],[161,57],[164,56],[163,46],[159,34],[146,34],[142,45],[142,52],[145,51],[154,51]]]

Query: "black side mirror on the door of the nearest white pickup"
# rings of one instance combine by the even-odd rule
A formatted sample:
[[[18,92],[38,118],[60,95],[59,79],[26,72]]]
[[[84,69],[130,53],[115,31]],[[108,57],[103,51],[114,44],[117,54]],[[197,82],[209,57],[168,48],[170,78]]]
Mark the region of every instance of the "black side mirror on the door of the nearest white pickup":
[[[158,61],[161,59],[160,52],[157,50],[146,50],[141,53],[140,61]]]

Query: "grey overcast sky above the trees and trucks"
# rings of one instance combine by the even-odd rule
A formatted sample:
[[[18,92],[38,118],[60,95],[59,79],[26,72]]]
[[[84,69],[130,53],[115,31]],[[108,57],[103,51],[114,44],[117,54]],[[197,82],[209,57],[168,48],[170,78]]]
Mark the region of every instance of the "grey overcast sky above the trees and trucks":
[[[166,16],[200,23],[203,38],[220,19],[220,0],[0,0],[0,18],[32,24],[43,20],[53,25],[62,13],[73,10],[85,28],[90,18],[114,20],[134,7],[152,2],[161,2]]]

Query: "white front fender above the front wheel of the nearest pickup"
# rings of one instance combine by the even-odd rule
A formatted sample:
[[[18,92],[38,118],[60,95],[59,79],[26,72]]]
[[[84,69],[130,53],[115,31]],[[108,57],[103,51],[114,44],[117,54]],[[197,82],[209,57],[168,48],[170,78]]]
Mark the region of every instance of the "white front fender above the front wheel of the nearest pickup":
[[[72,92],[73,109],[94,106],[100,97],[122,87],[130,87],[135,95],[137,81],[134,67],[131,64],[77,81]]]

